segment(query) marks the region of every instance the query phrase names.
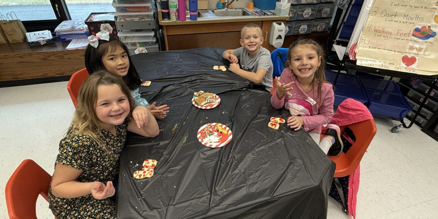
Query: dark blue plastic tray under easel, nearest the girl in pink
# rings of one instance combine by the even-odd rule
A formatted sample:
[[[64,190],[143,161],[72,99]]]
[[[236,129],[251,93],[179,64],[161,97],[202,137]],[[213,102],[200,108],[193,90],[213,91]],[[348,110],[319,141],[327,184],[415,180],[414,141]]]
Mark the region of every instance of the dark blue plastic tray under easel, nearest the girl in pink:
[[[329,82],[333,84],[333,81],[329,80]],[[339,106],[339,104],[341,104],[342,101],[347,98],[355,99],[365,105],[368,105],[369,103],[368,97],[366,96],[364,89],[360,86],[336,82],[334,88],[334,96],[335,100],[333,105],[335,106]]]

